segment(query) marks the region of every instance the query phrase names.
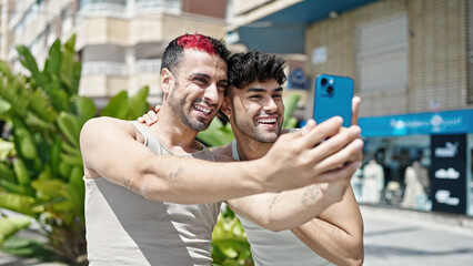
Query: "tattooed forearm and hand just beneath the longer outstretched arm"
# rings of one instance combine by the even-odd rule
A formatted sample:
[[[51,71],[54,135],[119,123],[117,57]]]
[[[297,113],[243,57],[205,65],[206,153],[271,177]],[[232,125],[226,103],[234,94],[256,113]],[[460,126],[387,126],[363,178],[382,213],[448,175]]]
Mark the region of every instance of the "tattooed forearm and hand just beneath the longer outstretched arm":
[[[344,134],[355,135],[360,133],[358,130],[358,127],[344,130],[313,150],[324,149],[325,144],[333,145],[334,143],[342,143],[341,137]],[[228,204],[239,215],[251,219],[264,228],[271,231],[294,228],[318,216],[331,204],[342,201],[345,190],[350,186],[351,176],[360,166],[362,146],[362,141],[356,140],[331,155],[331,160],[351,163],[339,166],[330,173],[325,173],[332,176],[330,183],[310,185],[281,193],[265,193],[233,198],[229,200]],[[342,164],[339,163],[339,165]],[[289,174],[286,178],[296,178],[296,175]]]

